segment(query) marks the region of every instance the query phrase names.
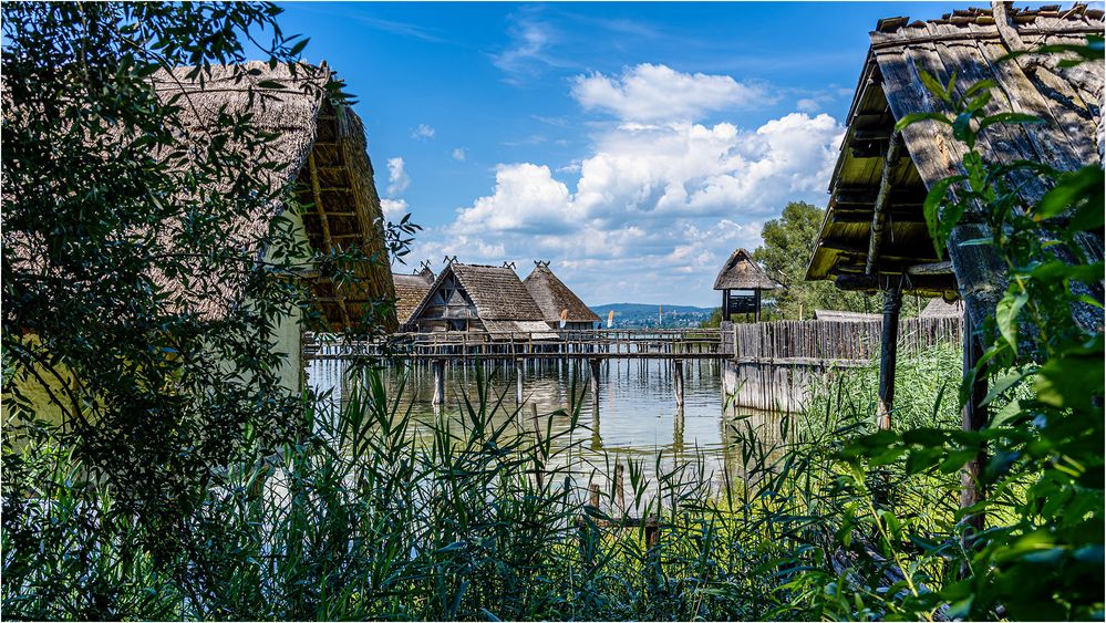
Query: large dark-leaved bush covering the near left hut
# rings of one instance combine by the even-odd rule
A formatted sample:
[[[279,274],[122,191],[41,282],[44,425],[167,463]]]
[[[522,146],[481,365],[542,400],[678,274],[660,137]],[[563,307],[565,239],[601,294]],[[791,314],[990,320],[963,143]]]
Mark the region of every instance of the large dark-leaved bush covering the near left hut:
[[[275,181],[291,163],[251,111],[224,106],[192,127],[195,102],[152,80],[192,66],[201,82],[230,64],[261,100],[286,86],[250,86],[236,64],[248,54],[293,76],[319,70],[297,63],[307,40],[285,35],[269,3],[2,11],[6,415],[43,416],[30,390],[44,391],[90,481],[161,533],[186,530],[213,470],[303,425],[272,347],[282,319],[310,315],[298,276],[340,278],[370,258],[321,258],[292,236],[298,207]],[[343,98],[334,82],[306,89]],[[292,211],[271,218],[281,205]],[[178,540],[149,547],[170,555]]]

